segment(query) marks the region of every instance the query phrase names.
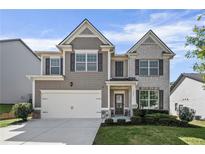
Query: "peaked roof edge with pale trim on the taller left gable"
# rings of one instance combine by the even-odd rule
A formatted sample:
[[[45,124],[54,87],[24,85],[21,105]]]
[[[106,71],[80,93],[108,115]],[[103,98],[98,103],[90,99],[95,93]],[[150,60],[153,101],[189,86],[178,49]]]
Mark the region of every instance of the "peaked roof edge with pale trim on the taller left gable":
[[[61,41],[58,45],[63,45],[65,42],[69,41],[69,39],[72,39],[72,37],[79,31],[79,29],[81,29],[85,24],[87,24],[89,26],[90,29],[92,29],[94,31],[94,33],[99,36],[102,40],[102,42],[105,45],[110,45],[113,46],[114,45],[88,20],[88,19],[84,19],[65,39],[63,39],[63,41]]]

